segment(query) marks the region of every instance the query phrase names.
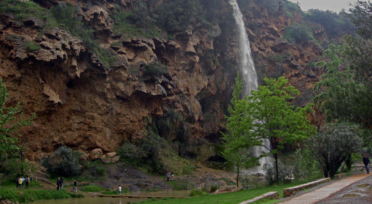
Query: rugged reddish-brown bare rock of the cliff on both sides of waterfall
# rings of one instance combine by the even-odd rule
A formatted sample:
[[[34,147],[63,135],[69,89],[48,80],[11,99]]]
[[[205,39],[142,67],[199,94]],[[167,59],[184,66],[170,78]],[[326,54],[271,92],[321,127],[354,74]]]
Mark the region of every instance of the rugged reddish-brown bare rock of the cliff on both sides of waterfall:
[[[48,8],[59,1],[36,2]],[[28,139],[29,159],[40,159],[61,144],[84,152],[112,152],[123,140],[143,137],[152,118],[166,117],[170,109],[183,118],[191,138],[219,139],[239,61],[227,2],[212,31],[192,25],[173,34],[174,40],[113,33],[108,15],[113,3],[130,10],[132,0],[107,0],[89,9],[84,1],[70,2],[82,6],[80,15],[96,28],[100,46],[115,54],[116,63],[105,66],[64,29],[44,28],[34,17],[0,15],[0,76],[9,91],[8,102],[21,102],[26,115],[36,113],[33,125],[21,131]],[[317,61],[323,49],[315,42],[296,45],[283,39],[283,30],[303,19],[298,13],[289,17],[280,6],[275,15],[254,1],[243,9],[256,69],[260,83],[265,76],[288,78],[301,90],[295,104],[304,105],[324,71],[307,64]],[[326,38],[321,27],[314,36]],[[41,48],[32,51],[28,42]],[[290,55],[283,61],[270,57],[286,53]],[[169,73],[142,77],[145,64],[155,60],[168,66]]]

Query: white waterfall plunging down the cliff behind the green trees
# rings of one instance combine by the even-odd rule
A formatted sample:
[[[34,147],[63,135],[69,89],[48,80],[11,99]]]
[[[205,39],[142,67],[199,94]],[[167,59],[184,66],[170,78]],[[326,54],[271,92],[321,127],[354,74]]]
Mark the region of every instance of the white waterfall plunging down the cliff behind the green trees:
[[[240,76],[243,79],[244,87],[243,87],[243,95],[247,95],[251,92],[251,90],[257,90],[258,82],[257,82],[257,73],[256,69],[254,68],[252,53],[251,53],[251,46],[248,39],[248,35],[246,32],[246,28],[244,26],[243,21],[243,14],[240,12],[238,3],[236,0],[229,0],[229,3],[234,10],[233,15],[235,18],[235,22],[238,26],[239,32],[239,50],[240,50]],[[268,140],[264,140],[265,146],[270,147],[270,142]],[[252,156],[259,156],[262,152],[263,147],[254,146],[252,148]],[[266,152],[268,150],[264,148]],[[258,173],[262,172],[262,166],[265,163],[269,163],[270,157],[263,157],[260,159],[260,166],[254,167],[249,169],[251,173]]]

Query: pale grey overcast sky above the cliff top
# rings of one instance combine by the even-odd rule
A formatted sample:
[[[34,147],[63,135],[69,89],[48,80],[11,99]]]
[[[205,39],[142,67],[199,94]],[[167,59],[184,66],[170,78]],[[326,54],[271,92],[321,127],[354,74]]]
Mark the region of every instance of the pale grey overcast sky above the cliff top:
[[[307,11],[309,9],[321,9],[321,10],[331,10],[334,12],[339,12],[341,9],[349,9],[349,2],[354,2],[356,0],[290,0],[294,3],[297,1],[301,4],[302,10]]]

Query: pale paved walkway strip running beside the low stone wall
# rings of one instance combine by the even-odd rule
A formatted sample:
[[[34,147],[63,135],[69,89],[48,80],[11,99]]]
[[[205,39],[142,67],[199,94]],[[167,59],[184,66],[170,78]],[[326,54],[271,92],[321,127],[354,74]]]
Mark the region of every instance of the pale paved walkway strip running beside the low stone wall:
[[[333,182],[330,185],[316,189],[315,191],[311,191],[290,200],[283,201],[280,204],[313,204],[370,175],[371,174],[362,173],[349,176],[341,179],[340,181]]]

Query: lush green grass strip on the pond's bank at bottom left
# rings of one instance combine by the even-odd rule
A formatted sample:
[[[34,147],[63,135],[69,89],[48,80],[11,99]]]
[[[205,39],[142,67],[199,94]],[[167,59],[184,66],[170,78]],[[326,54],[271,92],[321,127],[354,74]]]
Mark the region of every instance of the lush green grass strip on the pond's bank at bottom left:
[[[22,191],[23,194],[19,194]],[[0,189],[0,195],[3,199],[8,199],[12,201],[18,201],[19,203],[29,203],[36,200],[54,200],[63,198],[83,198],[82,194],[74,194],[67,192],[62,189],[56,190],[34,190],[34,189]]]

